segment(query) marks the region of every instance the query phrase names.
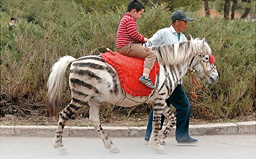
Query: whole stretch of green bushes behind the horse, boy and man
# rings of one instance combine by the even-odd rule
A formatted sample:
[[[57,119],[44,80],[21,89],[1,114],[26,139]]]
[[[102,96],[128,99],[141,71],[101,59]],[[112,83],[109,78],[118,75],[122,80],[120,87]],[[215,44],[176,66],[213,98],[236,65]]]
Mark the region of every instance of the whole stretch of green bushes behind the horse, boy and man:
[[[53,0],[2,0],[1,7],[1,99],[22,101],[29,96],[31,103],[46,105],[46,84],[53,63],[64,55],[79,58],[98,54],[102,47],[116,50],[118,23],[126,12],[124,5],[102,12],[87,12],[74,1]],[[167,4],[147,8],[143,18],[138,20],[140,33],[150,37],[160,28],[170,26],[170,14]],[[34,21],[27,23],[28,16]],[[185,34],[188,38],[189,34],[206,37],[221,74],[215,85],[201,82],[203,89],[199,100],[190,100],[192,117],[234,118],[255,112],[255,22],[191,16],[195,21],[189,22]],[[18,18],[18,24],[12,29],[7,26],[10,17]],[[185,77],[188,92],[187,83]],[[62,106],[70,101],[68,82],[65,87]],[[101,112],[103,117],[108,117],[105,112],[131,115],[129,109],[102,109],[105,110]],[[132,110],[136,115],[148,115],[149,107]]]

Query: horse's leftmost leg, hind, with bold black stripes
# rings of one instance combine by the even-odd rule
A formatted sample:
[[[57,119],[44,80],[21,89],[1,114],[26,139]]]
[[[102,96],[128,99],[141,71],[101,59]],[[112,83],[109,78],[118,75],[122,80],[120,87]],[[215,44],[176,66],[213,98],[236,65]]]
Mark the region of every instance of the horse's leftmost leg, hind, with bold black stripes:
[[[53,146],[59,150],[59,155],[68,155],[67,150],[62,144],[62,136],[64,131],[64,126],[67,120],[70,119],[72,115],[79,109],[79,106],[73,104],[73,101],[59,114],[59,123],[56,131],[56,135],[53,139]]]

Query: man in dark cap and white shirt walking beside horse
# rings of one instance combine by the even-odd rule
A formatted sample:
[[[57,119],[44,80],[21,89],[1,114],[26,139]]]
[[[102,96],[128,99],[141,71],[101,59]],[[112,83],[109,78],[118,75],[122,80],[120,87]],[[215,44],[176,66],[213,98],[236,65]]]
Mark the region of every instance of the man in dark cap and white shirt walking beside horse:
[[[176,10],[171,15],[172,25],[169,28],[162,28],[155,33],[148,42],[146,47],[151,45],[159,46],[162,44],[176,44],[187,41],[187,37],[183,32],[187,29],[188,21],[194,20],[193,18],[187,17],[184,11]],[[189,99],[182,88],[182,82],[178,82],[172,95],[165,101],[167,106],[172,104],[176,108],[176,141],[179,144],[193,144],[197,142],[197,139],[193,139],[189,136],[189,115],[190,115],[190,104]],[[164,123],[165,116],[162,115],[161,128]],[[146,129],[145,140],[148,141],[152,131],[153,121],[153,109],[148,119],[148,126]],[[165,144],[165,143],[162,143]]]

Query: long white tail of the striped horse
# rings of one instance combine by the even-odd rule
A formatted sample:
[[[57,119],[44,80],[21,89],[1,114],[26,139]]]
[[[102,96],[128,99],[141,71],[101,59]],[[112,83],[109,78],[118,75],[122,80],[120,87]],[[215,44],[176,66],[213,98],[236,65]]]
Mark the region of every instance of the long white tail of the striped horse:
[[[72,56],[66,55],[54,63],[47,84],[50,105],[60,104],[65,71],[69,64],[75,60]]]

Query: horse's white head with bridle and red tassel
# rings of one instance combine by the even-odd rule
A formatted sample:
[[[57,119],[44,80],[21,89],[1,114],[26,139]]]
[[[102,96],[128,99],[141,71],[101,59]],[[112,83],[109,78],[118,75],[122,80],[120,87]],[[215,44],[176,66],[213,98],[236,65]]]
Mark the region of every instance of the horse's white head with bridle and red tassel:
[[[219,72],[214,65],[215,58],[211,55],[211,48],[207,44],[205,38],[203,40],[194,39],[196,42],[195,58],[193,60],[192,69],[195,69],[197,75],[202,79],[206,78],[209,84],[217,82]]]

